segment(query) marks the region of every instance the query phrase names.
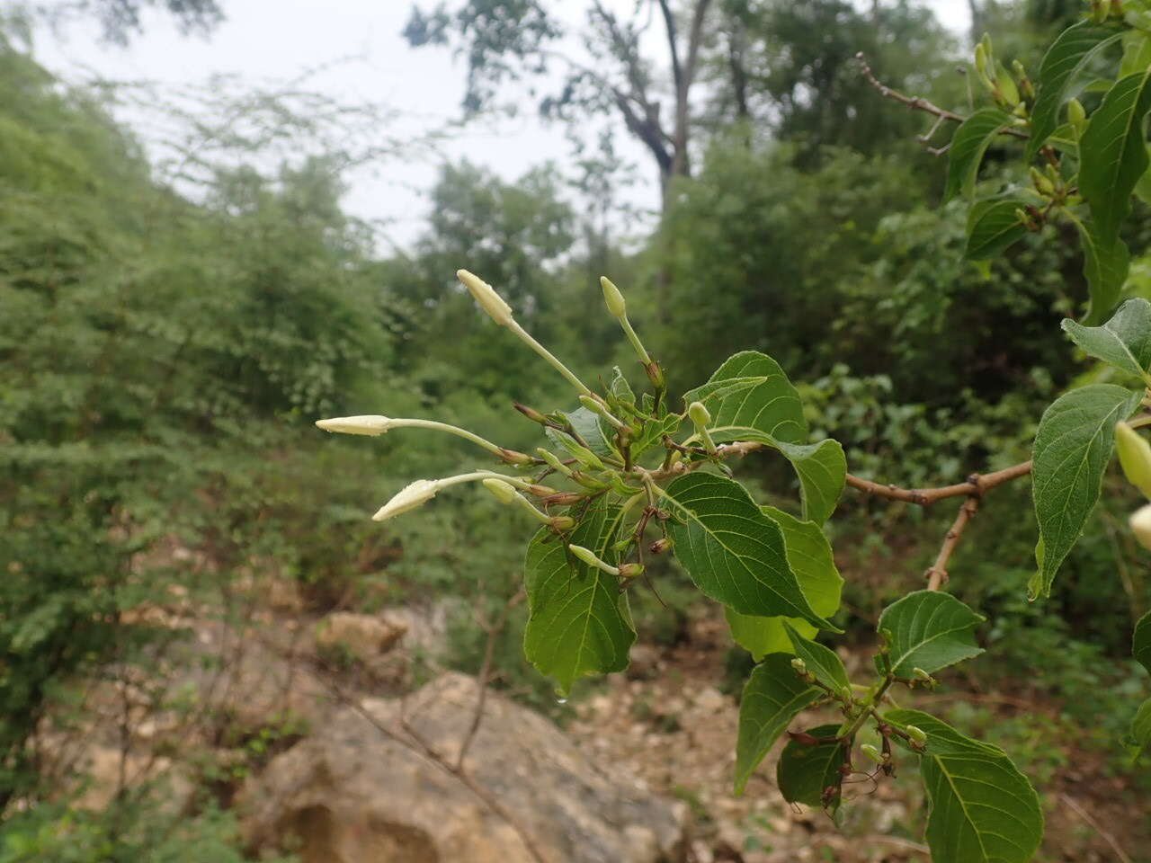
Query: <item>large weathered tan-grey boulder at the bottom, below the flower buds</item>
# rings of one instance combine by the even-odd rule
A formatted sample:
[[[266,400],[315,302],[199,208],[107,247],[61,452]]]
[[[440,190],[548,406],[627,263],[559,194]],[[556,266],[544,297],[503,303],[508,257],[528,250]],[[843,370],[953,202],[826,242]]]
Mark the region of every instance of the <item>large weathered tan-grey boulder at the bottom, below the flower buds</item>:
[[[403,705],[367,698],[337,711],[245,786],[249,841],[272,848],[295,834],[305,863],[536,863],[523,831],[548,863],[683,860],[683,803],[609,776],[531,710],[488,693],[465,764],[518,828],[421,754],[399,721],[403,709],[407,727],[453,764],[475,700],[472,678],[445,674]]]

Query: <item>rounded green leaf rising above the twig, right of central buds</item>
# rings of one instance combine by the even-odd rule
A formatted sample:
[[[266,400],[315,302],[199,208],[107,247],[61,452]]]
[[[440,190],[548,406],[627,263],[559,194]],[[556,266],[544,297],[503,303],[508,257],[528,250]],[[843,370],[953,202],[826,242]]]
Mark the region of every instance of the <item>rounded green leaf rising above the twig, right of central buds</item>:
[[[733,380],[735,379],[735,380]],[[746,385],[747,380],[761,379],[755,385]],[[730,382],[731,391],[721,384]],[[707,391],[711,395],[696,398],[693,394]],[[765,353],[744,351],[730,357],[703,387],[698,387],[685,397],[688,403],[703,402],[711,412],[709,428],[716,443],[734,441],[735,429],[753,428],[783,443],[803,443],[807,440],[807,419],[799,392],[787,380],[783,368]]]

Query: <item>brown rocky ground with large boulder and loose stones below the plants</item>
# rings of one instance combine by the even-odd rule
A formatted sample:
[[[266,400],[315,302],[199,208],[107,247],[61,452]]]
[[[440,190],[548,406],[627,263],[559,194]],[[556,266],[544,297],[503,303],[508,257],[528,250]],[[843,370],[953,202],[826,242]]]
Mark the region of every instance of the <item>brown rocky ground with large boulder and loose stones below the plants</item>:
[[[637,646],[562,730],[493,692],[475,725],[479,688],[460,674],[416,688],[413,657],[426,667],[442,641],[435,611],[313,616],[283,585],[251,595],[228,624],[178,602],[147,612],[193,637],[162,685],[93,687],[74,758],[97,774],[86,805],[125,778],[167,774],[174,805],[206,784],[242,814],[250,850],[294,847],[304,863],[928,860],[914,776],[851,784],[838,825],[780,799],[771,756],[732,795],[738,705],[719,688],[730,641],[717,613],[674,647]],[[1039,860],[1151,861],[1145,808],[1103,757],[1066,763],[1044,787]]]

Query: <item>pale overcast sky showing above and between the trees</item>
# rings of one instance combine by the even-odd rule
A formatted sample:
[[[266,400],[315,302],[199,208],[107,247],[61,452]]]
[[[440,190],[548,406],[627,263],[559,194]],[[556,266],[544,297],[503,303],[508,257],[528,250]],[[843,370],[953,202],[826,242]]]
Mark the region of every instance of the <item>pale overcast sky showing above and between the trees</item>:
[[[609,5],[628,8],[632,0]],[[584,3],[555,0],[576,17]],[[939,18],[956,31],[969,23],[961,0],[927,0]],[[237,74],[257,85],[296,78],[308,68],[328,67],[308,86],[350,102],[384,104],[401,119],[390,135],[417,136],[458,117],[465,69],[443,48],[413,51],[401,36],[410,0],[222,0],[226,21],[207,39],[181,36],[166,17],[145,18],[145,32],[127,47],[102,44],[91,25],[63,33],[37,35],[35,54],[70,81],[104,77],[151,81],[162,85],[201,83],[213,74]],[[425,7],[428,3],[425,3]],[[139,116],[125,114],[134,124]],[[623,144],[623,142],[620,142]],[[536,120],[525,96],[514,121],[455,133],[444,144],[450,158],[467,156],[513,178],[540,162],[562,162],[569,154],[563,132]],[[635,204],[655,207],[657,190],[639,145],[627,142],[624,155],[639,162],[643,183]],[[435,177],[433,160],[384,161],[379,170],[359,171],[345,199],[356,215],[382,219],[394,242],[410,243],[426,221],[422,192]]]

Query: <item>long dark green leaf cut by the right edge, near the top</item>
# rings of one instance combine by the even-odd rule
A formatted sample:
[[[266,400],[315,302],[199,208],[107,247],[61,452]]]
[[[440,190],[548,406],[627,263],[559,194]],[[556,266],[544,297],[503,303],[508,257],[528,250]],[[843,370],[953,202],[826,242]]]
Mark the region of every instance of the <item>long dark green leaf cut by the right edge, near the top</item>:
[[[1103,98],[1080,140],[1080,193],[1091,207],[1100,246],[1119,237],[1131,192],[1148,169],[1144,119],[1151,109],[1151,68],[1128,75]]]

